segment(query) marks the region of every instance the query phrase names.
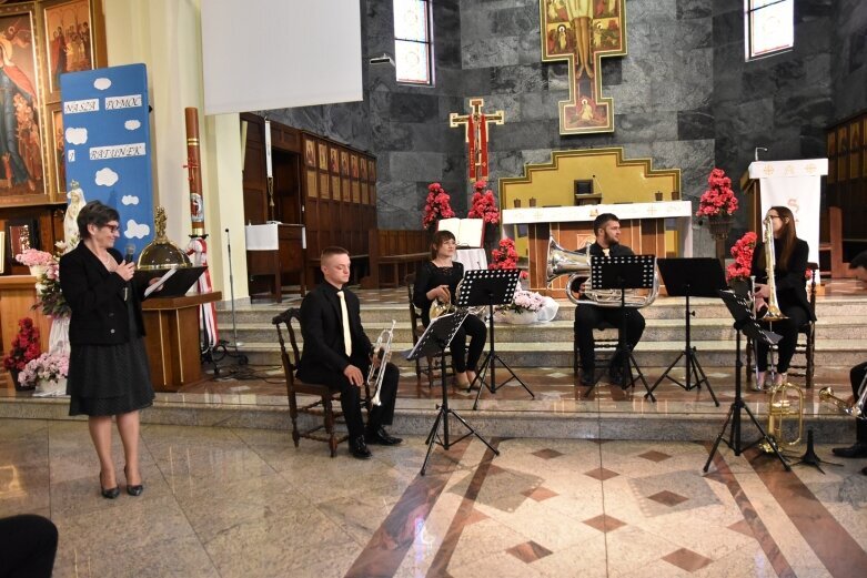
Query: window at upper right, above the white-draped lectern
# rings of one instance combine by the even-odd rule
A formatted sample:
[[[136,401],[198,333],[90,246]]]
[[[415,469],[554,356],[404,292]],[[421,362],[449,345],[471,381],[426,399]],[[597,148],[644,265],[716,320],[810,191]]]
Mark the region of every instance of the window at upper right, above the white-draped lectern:
[[[795,0],[745,0],[747,60],[795,45],[794,4]]]

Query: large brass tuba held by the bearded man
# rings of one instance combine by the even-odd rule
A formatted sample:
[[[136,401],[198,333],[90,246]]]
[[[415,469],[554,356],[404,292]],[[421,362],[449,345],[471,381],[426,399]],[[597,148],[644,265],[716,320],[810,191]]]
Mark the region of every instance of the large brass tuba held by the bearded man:
[[[591,243],[584,244],[578,251],[568,251],[563,249],[554,241],[554,237],[548,239],[548,254],[547,254],[547,267],[545,268],[545,276],[548,285],[555,278],[561,275],[568,275],[566,281],[566,296],[568,300],[578,304],[578,296],[583,293],[589,301],[583,301],[582,304],[597,305],[599,307],[619,307],[621,306],[621,292],[617,290],[591,290],[584,288],[591,276]],[[573,286],[578,280],[585,280],[581,284],[582,291],[578,295],[575,294]],[[635,291],[626,292],[626,306],[641,308],[649,305],[656,301],[656,296],[659,294],[659,275],[654,270],[653,273],[653,288],[646,295],[636,293]]]

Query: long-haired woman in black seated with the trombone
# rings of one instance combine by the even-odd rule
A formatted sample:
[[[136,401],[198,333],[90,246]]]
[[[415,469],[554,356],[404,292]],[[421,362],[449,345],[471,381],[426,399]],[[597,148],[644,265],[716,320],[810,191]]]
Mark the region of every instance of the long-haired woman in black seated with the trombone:
[[[770,324],[770,331],[782,335],[777,344],[777,367],[774,385],[786,383],[786,372],[795,355],[795,346],[798,343],[798,329],[808,321],[816,321],[807,300],[806,280],[807,256],[809,246],[803,239],[798,239],[795,232],[795,215],[786,206],[772,206],[766,220],[770,219],[774,235],[774,281],[779,310],[787,318],[775,321]],[[753,252],[753,275],[756,277],[756,317],[758,320],[765,313],[770,292],[767,285],[767,263],[765,243],[759,242]],[[767,376],[768,346],[756,343],[756,391],[760,391]]]

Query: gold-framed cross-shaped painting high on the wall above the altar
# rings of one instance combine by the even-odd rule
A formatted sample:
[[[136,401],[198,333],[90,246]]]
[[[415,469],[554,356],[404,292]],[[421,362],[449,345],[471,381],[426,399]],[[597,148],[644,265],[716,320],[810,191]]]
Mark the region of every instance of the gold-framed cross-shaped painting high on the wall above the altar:
[[[626,54],[624,0],[540,0],[542,60],[569,64],[569,98],[561,101],[561,134],[614,131],[612,99],[597,73],[604,57]]]

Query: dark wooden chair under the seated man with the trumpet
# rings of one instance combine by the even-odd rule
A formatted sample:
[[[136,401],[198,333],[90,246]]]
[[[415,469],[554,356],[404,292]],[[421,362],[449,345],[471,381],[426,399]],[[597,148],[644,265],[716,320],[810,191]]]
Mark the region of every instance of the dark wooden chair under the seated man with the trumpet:
[[[299,439],[305,437],[308,439],[315,439],[317,442],[325,442],[331,448],[331,457],[337,455],[337,444],[349,439],[349,435],[337,437],[334,433],[334,424],[337,418],[343,416],[343,413],[334,409],[334,403],[340,407],[340,392],[332,392],[327,385],[324,384],[308,384],[299,381],[295,377],[295,369],[298,368],[298,362],[301,358],[298,349],[298,342],[295,341],[295,329],[292,323],[299,324],[299,331],[301,322],[299,318],[299,310],[290,307],[280,315],[271,320],[271,323],[276,327],[278,341],[280,342],[280,357],[283,362],[283,373],[286,379],[286,397],[289,398],[289,416],[292,418],[292,442],[298,447]],[[292,356],[290,357],[286,351],[285,341],[283,339],[283,332],[289,335],[289,342],[292,346]],[[306,394],[319,397],[319,400],[308,405],[298,405],[296,394]],[[323,423],[311,429],[300,432],[298,428],[298,415],[309,414],[314,416],[321,416]],[[324,429],[324,434],[320,433]]]

